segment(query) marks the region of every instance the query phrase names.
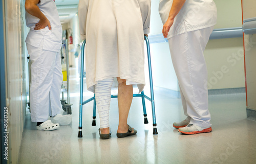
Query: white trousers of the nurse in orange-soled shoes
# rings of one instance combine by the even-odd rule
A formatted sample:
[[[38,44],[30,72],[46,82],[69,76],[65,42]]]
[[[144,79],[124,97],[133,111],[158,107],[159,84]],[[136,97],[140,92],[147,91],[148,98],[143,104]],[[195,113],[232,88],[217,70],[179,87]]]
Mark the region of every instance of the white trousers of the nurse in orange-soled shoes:
[[[184,114],[190,124],[210,127],[207,67],[204,49],[214,27],[182,33],[168,39],[170,54],[179,81]]]

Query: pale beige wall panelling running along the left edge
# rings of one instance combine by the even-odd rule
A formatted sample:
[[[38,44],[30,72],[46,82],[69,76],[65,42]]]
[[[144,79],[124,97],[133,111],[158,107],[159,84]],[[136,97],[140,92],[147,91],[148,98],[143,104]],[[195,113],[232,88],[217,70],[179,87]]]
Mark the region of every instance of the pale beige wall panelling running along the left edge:
[[[17,163],[25,121],[24,2],[5,1],[7,98],[9,100],[9,162]]]

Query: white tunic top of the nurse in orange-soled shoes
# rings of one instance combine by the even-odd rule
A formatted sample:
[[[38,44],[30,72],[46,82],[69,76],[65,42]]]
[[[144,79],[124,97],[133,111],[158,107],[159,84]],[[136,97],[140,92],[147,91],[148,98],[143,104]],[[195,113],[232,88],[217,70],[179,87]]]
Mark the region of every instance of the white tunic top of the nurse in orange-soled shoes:
[[[160,0],[159,13],[166,22],[173,0]],[[217,8],[213,0],[186,0],[170,27],[167,39],[178,34],[216,25]]]

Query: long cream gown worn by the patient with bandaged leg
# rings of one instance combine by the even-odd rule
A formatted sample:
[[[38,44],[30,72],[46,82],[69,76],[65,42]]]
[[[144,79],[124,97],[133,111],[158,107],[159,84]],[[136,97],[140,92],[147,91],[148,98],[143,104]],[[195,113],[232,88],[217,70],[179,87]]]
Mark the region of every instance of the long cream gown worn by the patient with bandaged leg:
[[[144,33],[150,31],[151,0],[80,0],[81,39],[86,39],[87,88],[120,77],[145,85]]]

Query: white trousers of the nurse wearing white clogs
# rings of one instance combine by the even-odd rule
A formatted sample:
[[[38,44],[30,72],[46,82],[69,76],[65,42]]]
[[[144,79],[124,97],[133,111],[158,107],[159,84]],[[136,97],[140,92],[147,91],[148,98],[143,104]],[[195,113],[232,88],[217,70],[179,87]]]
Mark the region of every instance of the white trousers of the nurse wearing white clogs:
[[[45,122],[49,115],[60,113],[62,72],[60,52],[42,49],[27,43],[31,64],[30,111],[32,122]]]

